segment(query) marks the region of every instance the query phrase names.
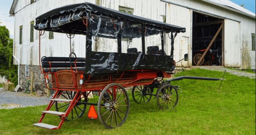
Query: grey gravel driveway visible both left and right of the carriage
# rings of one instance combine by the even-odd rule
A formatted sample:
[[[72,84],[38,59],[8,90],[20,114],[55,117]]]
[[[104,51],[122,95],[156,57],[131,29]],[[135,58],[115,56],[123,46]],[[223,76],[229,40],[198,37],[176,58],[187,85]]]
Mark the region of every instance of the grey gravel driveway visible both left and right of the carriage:
[[[255,73],[232,70],[220,66],[193,66],[192,68],[201,68],[223,72],[224,70],[226,70],[226,72],[229,72],[237,76],[245,76],[255,79]],[[10,92],[8,90],[3,90],[3,88],[0,88],[0,109],[13,109],[26,106],[46,105],[49,103],[51,98],[52,96],[34,96],[30,94],[24,94],[23,92]]]

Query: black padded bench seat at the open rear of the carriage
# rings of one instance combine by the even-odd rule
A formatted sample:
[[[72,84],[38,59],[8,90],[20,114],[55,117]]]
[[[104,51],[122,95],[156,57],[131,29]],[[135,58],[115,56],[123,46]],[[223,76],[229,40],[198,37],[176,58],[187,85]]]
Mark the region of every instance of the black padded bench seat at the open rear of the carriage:
[[[41,63],[44,72],[71,70],[71,65],[74,71],[76,71],[75,67],[77,67],[77,71],[84,71],[85,69],[85,58],[43,56],[41,58]]]

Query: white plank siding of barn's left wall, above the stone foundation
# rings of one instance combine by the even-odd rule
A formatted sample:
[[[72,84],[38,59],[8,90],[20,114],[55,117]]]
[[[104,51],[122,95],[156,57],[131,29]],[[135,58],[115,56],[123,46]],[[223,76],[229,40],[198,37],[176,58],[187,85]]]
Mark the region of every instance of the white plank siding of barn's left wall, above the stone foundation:
[[[15,9],[15,37],[14,37],[14,56],[20,60],[21,65],[39,65],[39,31],[34,29],[34,41],[30,42],[30,22],[35,21],[39,15],[55,9],[60,6],[83,3],[84,0],[38,0],[30,4],[30,0],[26,2],[18,0]],[[88,0],[94,3],[95,0]],[[23,8],[23,9],[22,9]],[[22,10],[21,10],[22,9]],[[31,10],[31,9],[34,9]],[[35,24],[35,23],[34,23]],[[19,44],[20,26],[22,25],[22,44]],[[77,57],[85,57],[85,36],[75,35],[71,39],[74,46],[73,52]],[[49,39],[49,32],[45,32],[41,36],[41,57],[42,56],[61,56],[68,57],[70,54],[70,40],[66,34],[54,33],[54,38]],[[18,64],[16,61],[14,64]]]

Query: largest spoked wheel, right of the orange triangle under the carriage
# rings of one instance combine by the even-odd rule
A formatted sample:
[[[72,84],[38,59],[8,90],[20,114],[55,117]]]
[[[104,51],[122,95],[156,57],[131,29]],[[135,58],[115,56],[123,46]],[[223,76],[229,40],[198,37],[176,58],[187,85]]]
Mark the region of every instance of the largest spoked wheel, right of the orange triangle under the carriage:
[[[117,83],[106,86],[98,100],[100,122],[108,129],[118,127],[128,116],[130,101],[124,87]]]

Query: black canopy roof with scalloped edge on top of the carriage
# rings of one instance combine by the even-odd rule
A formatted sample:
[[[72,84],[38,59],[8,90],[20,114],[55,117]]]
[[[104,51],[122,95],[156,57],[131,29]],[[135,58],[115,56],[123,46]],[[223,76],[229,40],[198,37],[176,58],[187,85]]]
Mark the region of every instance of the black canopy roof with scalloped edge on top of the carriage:
[[[79,3],[59,7],[48,11],[36,18],[35,29],[59,33],[86,34],[86,28],[81,25],[87,13],[103,15],[114,19],[131,21],[138,24],[158,27],[173,32],[185,32],[186,28],[168,23],[147,19],[132,14],[108,9],[96,4]],[[84,18],[84,20],[82,19]]]

